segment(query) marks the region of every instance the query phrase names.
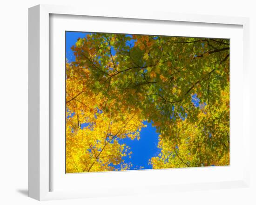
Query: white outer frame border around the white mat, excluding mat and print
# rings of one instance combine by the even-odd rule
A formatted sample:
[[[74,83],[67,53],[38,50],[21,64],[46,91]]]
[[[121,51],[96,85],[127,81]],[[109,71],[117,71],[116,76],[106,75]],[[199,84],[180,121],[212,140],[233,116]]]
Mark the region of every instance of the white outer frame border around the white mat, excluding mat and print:
[[[249,19],[240,17],[221,17],[194,14],[174,13],[127,13],[104,11],[98,8],[84,10],[79,7],[38,5],[29,8],[29,197],[37,200],[72,199],[97,196],[110,196],[110,192],[96,193],[86,190],[75,191],[51,191],[51,159],[52,149],[50,140],[50,15],[65,14],[75,16],[94,16],[126,19],[148,19],[158,21],[175,21],[188,23],[205,23],[239,25],[243,26],[243,146],[249,147]],[[231,50],[232,51],[232,50]],[[136,186],[133,189],[120,189],[116,185],[112,187],[117,191],[114,195],[127,195],[134,193],[171,192],[172,190],[198,190],[219,189],[249,186],[249,149],[244,150],[243,178],[239,180],[220,180],[199,183],[152,184],[152,186]],[[182,169],[180,169],[182,170]],[[162,171],[162,170],[158,170]],[[179,171],[179,170],[178,170]],[[194,169],[194,172],[196,170]],[[128,172],[122,173],[128,175]],[[133,172],[133,175],[136,175]],[[80,175],[81,176],[81,175]],[[97,177],[94,175],[94,178]],[[113,192],[112,192],[113,193]]]

